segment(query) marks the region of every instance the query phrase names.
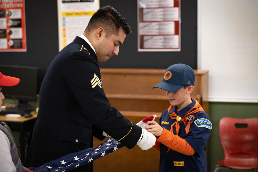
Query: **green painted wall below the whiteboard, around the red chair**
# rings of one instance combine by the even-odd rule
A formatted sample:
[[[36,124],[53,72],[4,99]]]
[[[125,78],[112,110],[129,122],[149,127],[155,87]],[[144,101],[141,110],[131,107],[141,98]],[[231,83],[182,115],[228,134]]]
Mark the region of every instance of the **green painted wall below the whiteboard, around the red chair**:
[[[219,141],[219,121],[222,117],[233,118],[253,118],[258,117],[258,103],[222,103],[209,102],[209,116],[212,122],[212,133],[208,140],[207,161],[208,171],[212,172],[217,161],[224,159],[224,153]],[[257,141],[258,144],[258,141]],[[224,170],[223,171],[241,171],[241,170]],[[251,172],[251,170],[242,170]]]

